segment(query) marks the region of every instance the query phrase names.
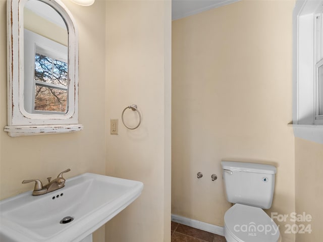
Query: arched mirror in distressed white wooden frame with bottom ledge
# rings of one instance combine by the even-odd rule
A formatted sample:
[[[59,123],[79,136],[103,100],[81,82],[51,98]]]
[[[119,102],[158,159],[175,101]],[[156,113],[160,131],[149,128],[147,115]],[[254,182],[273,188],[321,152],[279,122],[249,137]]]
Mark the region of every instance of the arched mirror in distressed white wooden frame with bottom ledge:
[[[10,136],[75,132],[78,38],[59,0],[8,0]]]

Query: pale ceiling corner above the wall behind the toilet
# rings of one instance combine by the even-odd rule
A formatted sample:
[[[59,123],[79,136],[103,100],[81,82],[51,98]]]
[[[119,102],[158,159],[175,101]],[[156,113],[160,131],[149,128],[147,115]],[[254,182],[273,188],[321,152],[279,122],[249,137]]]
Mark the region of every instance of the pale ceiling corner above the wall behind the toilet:
[[[172,0],[172,20],[219,8],[239,0]]]

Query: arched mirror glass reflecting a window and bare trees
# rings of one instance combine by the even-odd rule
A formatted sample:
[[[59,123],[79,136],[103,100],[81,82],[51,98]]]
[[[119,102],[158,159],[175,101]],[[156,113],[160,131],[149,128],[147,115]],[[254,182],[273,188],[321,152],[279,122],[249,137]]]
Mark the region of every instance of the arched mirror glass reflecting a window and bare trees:
[[[47,4],[24,6],[24,108],[28,113],[68,111],[68,31]]]

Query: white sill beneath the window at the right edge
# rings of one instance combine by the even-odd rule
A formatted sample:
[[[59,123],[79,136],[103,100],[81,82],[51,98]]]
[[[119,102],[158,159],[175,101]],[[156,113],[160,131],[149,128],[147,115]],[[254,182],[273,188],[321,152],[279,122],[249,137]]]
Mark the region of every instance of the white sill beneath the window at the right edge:
[[[291,125],[294,136],[323,144],[323,125]]]

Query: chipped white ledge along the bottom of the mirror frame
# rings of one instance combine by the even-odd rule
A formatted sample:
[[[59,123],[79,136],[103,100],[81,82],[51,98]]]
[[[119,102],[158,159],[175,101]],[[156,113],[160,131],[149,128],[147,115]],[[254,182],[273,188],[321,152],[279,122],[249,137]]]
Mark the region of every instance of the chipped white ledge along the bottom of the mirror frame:
[[[11,137],[72,133],[83,130],[83,125],[5,126]]]

